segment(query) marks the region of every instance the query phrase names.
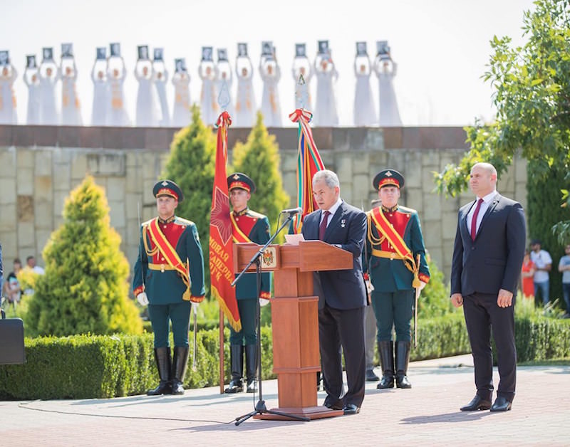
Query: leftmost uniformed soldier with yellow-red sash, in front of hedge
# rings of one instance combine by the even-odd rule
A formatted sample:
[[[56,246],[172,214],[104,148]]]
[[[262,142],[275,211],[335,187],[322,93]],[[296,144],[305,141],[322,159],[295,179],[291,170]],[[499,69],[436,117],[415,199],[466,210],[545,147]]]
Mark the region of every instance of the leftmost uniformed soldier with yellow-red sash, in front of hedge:
[[[141,305],[148,305],[155,335],[160,383],[147,394],[184,394],[190,306],[191,302],[204,300],[204,258],[195,223],[175,216],[178,203],[184,199],[180,187],[170,180],[161,180],[152,194],[156,197],[158,217],[142,223],[133,277],[134,294]],[[170,323],[174,339],[172,360]]]

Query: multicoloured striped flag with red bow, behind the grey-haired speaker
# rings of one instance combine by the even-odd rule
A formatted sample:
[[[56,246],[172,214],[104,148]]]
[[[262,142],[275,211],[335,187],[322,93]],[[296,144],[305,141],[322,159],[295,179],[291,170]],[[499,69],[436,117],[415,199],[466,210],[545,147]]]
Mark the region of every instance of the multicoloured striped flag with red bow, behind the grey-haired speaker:
[[[309,122],[313,114],[308,110],[297,109],[289,119],[299,122],[299,147],[297,151],[297,206],[303,210],[296,214],[293,220],[294,233],[301,233],[304,217],[315,211],[316,201],[313,197],[313,176],[316,172],[325,169],[321,155],[313,140],[313,132]]]

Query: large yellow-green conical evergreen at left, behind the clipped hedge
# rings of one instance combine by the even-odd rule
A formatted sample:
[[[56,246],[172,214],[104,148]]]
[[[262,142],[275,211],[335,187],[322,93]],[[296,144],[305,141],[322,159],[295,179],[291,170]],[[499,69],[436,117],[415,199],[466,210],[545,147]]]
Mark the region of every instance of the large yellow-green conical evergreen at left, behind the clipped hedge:
[[[63,224],[43,249],[46,274],[34,285],[26,325],[38,335],[141,333],[119,246],[105,192],[88,176],[71,191]]]

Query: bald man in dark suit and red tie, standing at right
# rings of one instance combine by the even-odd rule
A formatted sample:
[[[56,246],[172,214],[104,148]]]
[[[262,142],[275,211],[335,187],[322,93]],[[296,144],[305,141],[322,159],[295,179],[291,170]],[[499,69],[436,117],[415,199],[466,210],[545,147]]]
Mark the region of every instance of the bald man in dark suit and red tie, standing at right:
[[[508,411],[517,379],[514,296],[524,258],[526,226],[522,206],[497,193],[497,170],[489,163],[471,169],[475,201],[462,206],[451,268],[451,301],[463,305],[475,364],[477,394],[461,411]],[[491,330],[499,364],[493,394]]]

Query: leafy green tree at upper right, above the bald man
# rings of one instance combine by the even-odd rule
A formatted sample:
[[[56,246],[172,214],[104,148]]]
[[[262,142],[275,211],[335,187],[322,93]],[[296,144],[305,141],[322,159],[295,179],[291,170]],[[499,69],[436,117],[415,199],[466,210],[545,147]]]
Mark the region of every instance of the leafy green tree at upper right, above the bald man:
[[[509,37],[495,36],[491,41],[494,54],[483,78],[495,90],[496,120],[465,128],[470,151],[459,164],[435,174],[435,182],[440,193],[455,196],[467,188],[475,162],[494,164],[500,175],[520,151],[528,161],[530,235],[552,249],[556,239],[559,244],[570,241],[569,2],[535,1],[534,11],[524,14],[523,30],[524,46],[512,48]],[[532,199],[531,191],[547,197],[557,194],[558,201],[545,206],[544,201]]]

